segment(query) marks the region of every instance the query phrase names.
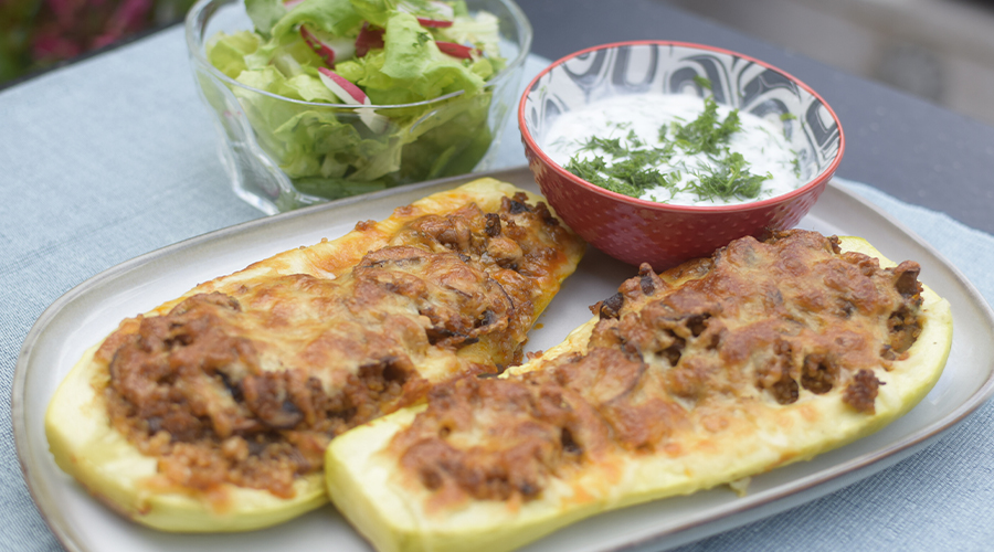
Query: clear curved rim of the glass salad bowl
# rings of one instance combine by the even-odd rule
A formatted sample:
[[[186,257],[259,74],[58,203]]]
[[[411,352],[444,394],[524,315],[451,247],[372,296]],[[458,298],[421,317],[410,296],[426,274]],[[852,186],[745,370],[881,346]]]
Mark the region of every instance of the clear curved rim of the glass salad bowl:
[[[208,61],[207,55],[204,54],[204,51],[203,51],[203,45],[204,45],[203,36],[201,35],[201,31],[197,28],[198,26],[197,20],[200,19],[200,14],[209,6],[215,6],[216,8],[221,8],[225,4],[237,3],[240,1],[241,0],[198,0],[197,3],[193,4],[193,7],[190,8],[190,10],[187,12],[187,17],[183,22],[183,26],[184,26],[186,35],[187,35],[187,50],[189,51],[190,55],[193,56],[193,59],[200,65],[207,67],[208,72],[211,74],[211,76],[224,82],[228,85],[237,86],[239,88],[242,88],[242,89],[245,89],[248,92],[253,92],[255,94],[268,96],[274,99],[289,102],[292,104],[322,107],[322,108],[347,109],[347,110],[400,109],[400,108],[408,108],[408,107],[430,106],[430,105],[434,105],[434,104],[444,103],[444,102],[452,99],[454,97],[457,97],[457,96],[462,96],[466,92],[466,91],[456,91],[456,92],[453,92],[450,94],[445,94],[444,96],[438,96],[436,98],[431,98],[431,99],[424,99],[421,102],[414,102],[411,104],[372,104],[372,105],[359,106],[359,105],[353,105],[353,104],[329,104],[327,102],[306,102],[303,99],[294,99],[294,98],[288,98],[286,96],[281,96],[278,94],[273,94],[272,92],[262,91],[262,89],[242,84],[242,83],[235,81],[234,78],[231,78],[230,76],[222,73],[220,70],[218,70],[218,67],[214,67],[214,65]],[[507,63],[506,67],[504,67],[500,72],[498,72],[489,81],[487,81],[485,83],[483,89],[493,88],[493,87],[497,86],[498,84],[500,84],[500,82],[506,81],[507,78],[510,78],[510,76],[514,74],[515,71],[517,71],[518,68],[520,68],[525,65],[525,60],[528,57],[528,54],[531,51],[531,40],[532,40],[533,31],[531,28],[531,23],[528,21],[528,17],[525,15],[525,12],[521,10],[520,7],[518,7],[517,3],[515,3],[514,0],[497,0],[497,1],[500,2],[501,4],[504,4],[505,8],[507,8],[508,12],[511,15],[511,20],[518,28],[518,31],[521,36],[520,36],[520,40],[518,41],[518,44],[519,44],[518,55],[514,60],[510,60]]]

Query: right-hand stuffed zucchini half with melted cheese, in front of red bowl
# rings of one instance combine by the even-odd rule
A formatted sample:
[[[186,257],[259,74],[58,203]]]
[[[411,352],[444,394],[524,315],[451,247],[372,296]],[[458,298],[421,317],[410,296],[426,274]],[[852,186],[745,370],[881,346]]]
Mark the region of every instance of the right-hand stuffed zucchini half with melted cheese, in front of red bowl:
[[[644,265],[541,358],[332,442],[331,500],[381,552],[498,552],[810,459],[942,373],[952,317],[919,270],[805,231]]]

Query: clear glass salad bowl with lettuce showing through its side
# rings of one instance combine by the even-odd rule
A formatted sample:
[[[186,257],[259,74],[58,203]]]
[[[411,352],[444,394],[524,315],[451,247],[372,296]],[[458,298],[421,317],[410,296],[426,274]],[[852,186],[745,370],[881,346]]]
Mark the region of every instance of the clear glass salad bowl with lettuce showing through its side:
[[[239,82],[230,76],[239,76],[236,72],[225,74],[209,61],[211,39],[219,32],[252,31],[253,20],[241,0],[197,2],[187,14],[187,46],[235,193],[275,214],[489,168],[497,134],[517,102],[531,25],[510,0],[465,4],[470,14],[495,17],[490,20],[496,19],[506,62],[482,87],[416,103],[378,105],[367,98],[356,105],[294,99]],[[324,57],[319,47],[315,52]],[[465,65],[469,63],[467,59]]]

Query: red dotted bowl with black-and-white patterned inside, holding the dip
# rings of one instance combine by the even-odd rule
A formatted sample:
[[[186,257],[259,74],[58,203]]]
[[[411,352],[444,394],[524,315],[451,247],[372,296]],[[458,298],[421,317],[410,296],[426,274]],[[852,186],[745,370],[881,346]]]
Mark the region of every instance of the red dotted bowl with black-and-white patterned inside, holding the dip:
[[[710,82],[702,87],[701,77]],[[782,195],[718,206],[684,206],[607,191],[557,164],[542,148],[561,114],[641,93],[713,95],[773,121],[797,153],[805,184]],[[812,208],[845,149],[838,117],[807,85],[759,60],[699,44],[638,41],[595,46],[540,73],[518,106],[531,171],[549,203],[584,240],[621,261],[657,270],[765,230],[794,226]]]

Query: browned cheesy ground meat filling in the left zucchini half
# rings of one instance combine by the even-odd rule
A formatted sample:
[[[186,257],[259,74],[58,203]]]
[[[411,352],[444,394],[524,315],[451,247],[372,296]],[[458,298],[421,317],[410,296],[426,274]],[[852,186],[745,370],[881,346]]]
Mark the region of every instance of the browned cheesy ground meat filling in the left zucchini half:
[[[126,320],[96,357],[112,424],[168,484],[292,497],[334,436],[422,400],[440,378],[519,361],[567,240],[520,194],[496,213],[416,219],[334,279],[278,276]],[[504,348],[493,363],[458,355],[485,337]],[[444,373],[420,371],[429,357]]]

